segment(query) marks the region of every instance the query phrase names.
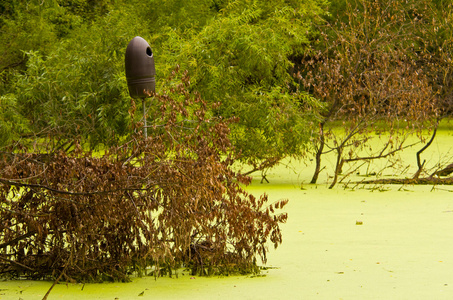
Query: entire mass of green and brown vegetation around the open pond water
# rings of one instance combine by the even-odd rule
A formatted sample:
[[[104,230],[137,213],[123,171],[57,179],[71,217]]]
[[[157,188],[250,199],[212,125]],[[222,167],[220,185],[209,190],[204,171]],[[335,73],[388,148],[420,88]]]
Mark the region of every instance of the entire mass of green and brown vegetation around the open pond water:
[[[310,182],[327,176],[330,189],[363,174],[452,183],[451,155],[426,155],[453,112],[451,1],[10,0],[0,11],[1,275],[258,272],[282,243],[287,200],[244,185],[288,159],[313,161]],[[144,112],[124,76],[136,35],[156,60]]]

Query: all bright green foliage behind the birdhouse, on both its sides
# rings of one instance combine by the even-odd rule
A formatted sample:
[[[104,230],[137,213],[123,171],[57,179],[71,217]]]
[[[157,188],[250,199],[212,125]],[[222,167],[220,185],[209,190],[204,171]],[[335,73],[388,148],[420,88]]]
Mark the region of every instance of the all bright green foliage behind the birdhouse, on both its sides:
[[[14,2],[0,36],[0,92],[17,99],[35,134],[112,143],[130,123],[123,53],[141,35],[158,89],[180,65],[193,90],[222,103],[216,115],[239,117],[232,137],[243,161],[301,155],[319,105],[295,89],[290,57],[305,52],[325,9],[324,0]]]

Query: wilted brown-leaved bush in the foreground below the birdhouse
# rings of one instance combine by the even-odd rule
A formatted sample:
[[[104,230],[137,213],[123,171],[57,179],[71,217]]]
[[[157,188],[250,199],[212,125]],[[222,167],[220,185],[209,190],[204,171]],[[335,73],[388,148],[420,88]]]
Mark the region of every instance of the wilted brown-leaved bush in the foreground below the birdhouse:
[[[153,123],[104,154],[52,139],[0,153],[0,275],[66,281],[135,274],[259,272],[282,242],[266,195],[244,190],[228,138],[234,120],[213,116],[188,77],[154,96]],[[132,104],[131,114],[134,114]],[[51,151],[47,151],[47,148]]]

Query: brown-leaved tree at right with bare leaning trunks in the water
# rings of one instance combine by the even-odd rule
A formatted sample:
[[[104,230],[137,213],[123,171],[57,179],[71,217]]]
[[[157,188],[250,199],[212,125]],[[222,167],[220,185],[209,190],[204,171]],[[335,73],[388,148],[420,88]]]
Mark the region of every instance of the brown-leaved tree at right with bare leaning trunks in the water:
[[[348,1],[345,17],[321,30],[319,50],[302,61],[297,77],[328,107],[319,123],[312,183],[317,181],[326,152],[337,154],[333,187],[344,163],[394,155],[404,148],[407,130],[421,132],[426,121],[435,124],[438,97],[431,85],[432,73],[420,65],[421,39],[413,30],[425,26],[416,17],[419,5],[423,7],[385,0]],[[328,127],[338,122],[343,132]],[[377,127],[382,122],[389,139],[382,149],[360,154],[370,133],[382,130]],[[405,130],[399,131],[402,124]]]

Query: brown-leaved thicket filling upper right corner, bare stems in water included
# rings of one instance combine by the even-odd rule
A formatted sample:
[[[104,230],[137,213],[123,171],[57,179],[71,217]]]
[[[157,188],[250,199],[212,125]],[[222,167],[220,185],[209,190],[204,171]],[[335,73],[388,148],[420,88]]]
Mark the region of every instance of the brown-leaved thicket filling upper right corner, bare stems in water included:
[[[426,143],[417,153],[414,177],[426,174],[421,153],[432,143],[439,121],[451,116],[453,103],[451,3],[337,4],[337,14],[319,26],[312,51],[298,61],[294,74],[327,108],[314,139],[311,182],[317,182],[321,158],[329,152],[337,156],[333,187],[341,175],[344,180],[372,160],[392,159],[414,146],[407,143],[411,134]],[[382,146],[371,148],[373,138],[380,138]],[[345,172],[348,163],[353,165]]]

